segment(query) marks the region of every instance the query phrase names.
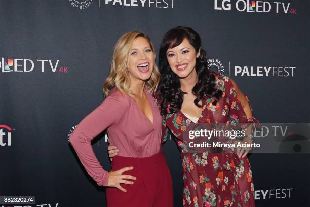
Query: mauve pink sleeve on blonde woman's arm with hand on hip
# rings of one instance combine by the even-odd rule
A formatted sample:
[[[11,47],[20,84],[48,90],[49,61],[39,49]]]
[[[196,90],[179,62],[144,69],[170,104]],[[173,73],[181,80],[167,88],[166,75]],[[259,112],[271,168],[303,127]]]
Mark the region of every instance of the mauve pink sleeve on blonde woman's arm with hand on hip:
[[[91,145],[93,140],[107,127],[117,124],[126,112],[128,101],[122,96],[108,96],[95,110],[87,115],[69,137],[69,141],[88,174],[98,185],[107,186],[108,172],[100,165]],[[127,104],[128,103],[128,104]]]

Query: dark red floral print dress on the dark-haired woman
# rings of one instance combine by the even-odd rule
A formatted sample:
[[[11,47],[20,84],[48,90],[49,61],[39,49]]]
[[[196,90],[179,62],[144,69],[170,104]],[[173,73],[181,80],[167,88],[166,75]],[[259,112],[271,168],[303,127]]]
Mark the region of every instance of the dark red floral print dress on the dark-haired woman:
[[[205,96],[199,123],[259,123],[247,118],[234,85],[227,76],[214,74],[216,87],[223,91],[216,106],[214,97]],[[155,98],[156,99],[156,98]],[[157,100],[159,105],[160,100]],[[168,107],[169,108],[169,107]],[[247,157],[231,153],[188,153],[183,132],[191,124],[181,111],[168,113],[163,119],[163,140],[170,130],[178,144],[183,166],[183,206],[255,206],[251,166]]]

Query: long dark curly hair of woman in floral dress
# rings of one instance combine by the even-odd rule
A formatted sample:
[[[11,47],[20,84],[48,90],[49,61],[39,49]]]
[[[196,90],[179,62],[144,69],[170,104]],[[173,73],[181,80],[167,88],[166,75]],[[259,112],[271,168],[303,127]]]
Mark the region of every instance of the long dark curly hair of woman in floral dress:
[[[169,30],[165,34],[159,51],[161,80],[158,87],[158,96],[162,100],[162,115],[166,115],[167,112],[178,112],[182,107],[183,95],[185,92],[181,90],[179,77],[173,73],[169,66],[166,52],[169,48],[174,48],[180,45],[185,38],[195,48],[196,53],[200,50],[200,56],[196,59],[195,66],[198,81],[192,88],[192,93],[197,97],[194,100],[195,105],[201,108],[202,106],[199,104],[199,101],[201,101],[206,95],[215,97],[216,100],[212,104],[216,105],[223,93],[220,89],[215,87],[215,76],[213,72],[208,69],[206,52],[201,47],[199,34],[192,28],[178,26]],[[170,105],[169,110],[167,110],[168,104]]]

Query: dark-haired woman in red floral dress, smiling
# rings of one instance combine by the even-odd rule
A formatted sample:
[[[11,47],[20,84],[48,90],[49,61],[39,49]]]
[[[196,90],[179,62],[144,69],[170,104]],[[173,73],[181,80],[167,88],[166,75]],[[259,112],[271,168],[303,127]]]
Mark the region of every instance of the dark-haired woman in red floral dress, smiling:
[[[183,205],[255,206],[252,171],[246,157],[250,148],[230,153],[188,153],[183,140],[183,132],[193,123],[257,123],[247,98],[230,78],[208,70],[199,34],[189,27],[176,27],[165,34],[159,67],[163,130],[173,133],[181,152]],[[251,143],[251,135],[243,142]]]

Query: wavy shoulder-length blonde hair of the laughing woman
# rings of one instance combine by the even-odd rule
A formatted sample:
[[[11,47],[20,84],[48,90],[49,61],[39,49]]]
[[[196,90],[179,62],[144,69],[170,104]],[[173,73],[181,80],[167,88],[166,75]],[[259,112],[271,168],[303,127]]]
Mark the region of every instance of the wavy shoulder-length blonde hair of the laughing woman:
[[[130,86],[129,56],[132,43],[138,37],[143,37],[148,41],[151,50],[154,53],[154,59],[155,59],[156,53],[154,45],[144,32],[131,31],[123,34],[123,36],[118,40],[118,42],[114,46],[113,59],[111,61],[109,69],[109,76],[104,82],[103,87],[105,97],[109,95],[109,93],[114,87],[117,87],[122,92],[133,94],[129,90]],[[145,88],[149,93],[153,94],[156,91],[159,79],[160,79],[160,72],[154,62],[151,77],[145,83]]]

